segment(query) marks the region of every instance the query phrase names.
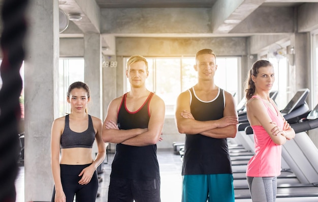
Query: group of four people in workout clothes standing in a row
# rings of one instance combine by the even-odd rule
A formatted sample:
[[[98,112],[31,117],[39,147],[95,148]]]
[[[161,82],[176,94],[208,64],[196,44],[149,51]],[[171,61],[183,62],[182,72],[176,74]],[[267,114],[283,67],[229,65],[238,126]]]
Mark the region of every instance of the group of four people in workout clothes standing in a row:
[[[196,54],[198,82],[182,92],[175,120],[185,135],[182,201],[234,202],[228,137],[235,137],[238,116],[233,96],[214,83],[216,55],[211,49]],[[108,201],[160,202],[160,170],[156,143],[165,119],[165,103],[147,90],[148,63],[133,55],[126,64],[131,90],[112,100],[104,123],[87,113],[88,86],[72,83],[67,101],[71,113],[54,120],[51,131],[52,201],[95,201],[97,167],[106,154],[105,142],[116,143]],[[268,61],[253,64],[246,89],[247,117],[254,131],[256,154],[246,178],[253,201],[275,201],[280,175],[281,145],[295,136],[269,98],[274,69]],[[92,158],[96,140],[98,153]]]

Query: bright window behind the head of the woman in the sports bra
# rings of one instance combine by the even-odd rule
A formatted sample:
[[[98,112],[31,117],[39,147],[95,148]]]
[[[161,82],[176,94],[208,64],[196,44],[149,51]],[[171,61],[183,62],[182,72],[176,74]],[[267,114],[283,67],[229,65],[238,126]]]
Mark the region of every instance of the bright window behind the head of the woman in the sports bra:
[[[67,93],[70,84],[75,81],[84,82],[83,58],[59,59],[59,117],[70,113],[70,104],[67,103]]]

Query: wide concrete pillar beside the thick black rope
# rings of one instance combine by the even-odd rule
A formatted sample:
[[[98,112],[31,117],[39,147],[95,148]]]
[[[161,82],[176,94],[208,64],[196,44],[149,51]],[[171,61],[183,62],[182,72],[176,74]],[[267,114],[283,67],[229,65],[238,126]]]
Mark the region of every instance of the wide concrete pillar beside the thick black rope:
[[[50,201],[51,126],[58,116],[58,1],[29,2],[24,66],[25,201]]]

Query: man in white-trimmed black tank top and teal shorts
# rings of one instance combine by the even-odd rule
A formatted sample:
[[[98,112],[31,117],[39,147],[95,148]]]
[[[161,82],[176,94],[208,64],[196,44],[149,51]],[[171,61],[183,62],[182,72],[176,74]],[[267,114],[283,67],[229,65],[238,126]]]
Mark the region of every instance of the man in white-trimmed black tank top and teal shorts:
[[[237,112],[233,96],[214,83],[216,56],[197,52],[198,83],[177,99],[175,119],[185,133],[182,202],[234,202],[227,137],[235,137]]]

